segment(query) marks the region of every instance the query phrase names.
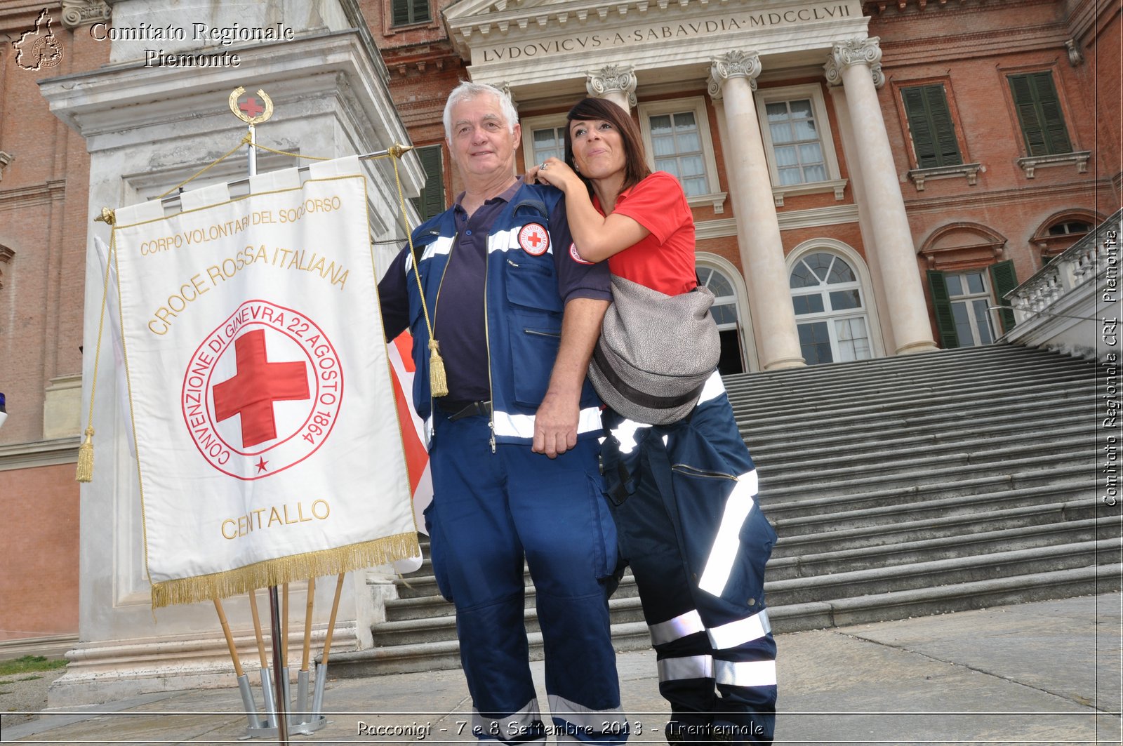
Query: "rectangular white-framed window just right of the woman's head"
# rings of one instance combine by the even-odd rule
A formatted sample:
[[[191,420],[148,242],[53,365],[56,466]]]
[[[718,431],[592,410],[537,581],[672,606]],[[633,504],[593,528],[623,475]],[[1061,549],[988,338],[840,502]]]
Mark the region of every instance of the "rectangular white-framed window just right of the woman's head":
[[[648,166],[677,176],[692,206],[712,202],[721,212],[725,194],[718,191],[705,99],[641,103],[638,113]]]

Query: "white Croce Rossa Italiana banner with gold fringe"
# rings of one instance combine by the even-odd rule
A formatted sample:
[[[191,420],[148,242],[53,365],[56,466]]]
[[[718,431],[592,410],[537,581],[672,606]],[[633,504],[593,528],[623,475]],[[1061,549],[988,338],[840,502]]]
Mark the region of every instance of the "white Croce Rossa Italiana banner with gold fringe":
[[[353,173],[167,218],[117,211],[155,607],[420,555]]]

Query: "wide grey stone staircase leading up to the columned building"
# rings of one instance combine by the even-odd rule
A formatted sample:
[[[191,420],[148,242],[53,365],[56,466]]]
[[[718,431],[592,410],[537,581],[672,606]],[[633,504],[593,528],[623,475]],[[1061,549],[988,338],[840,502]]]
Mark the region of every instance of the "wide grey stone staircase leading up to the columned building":
[[[1094,363],[992,345],[725,385],[779,536],[775,631],[1119,590],[1120,522],[1097,513]],[[428,560],[398,593],[374,648],[332,656],[337,675],[459,665]],[[610,608],[618,649],[647,647],[630,575]]]

